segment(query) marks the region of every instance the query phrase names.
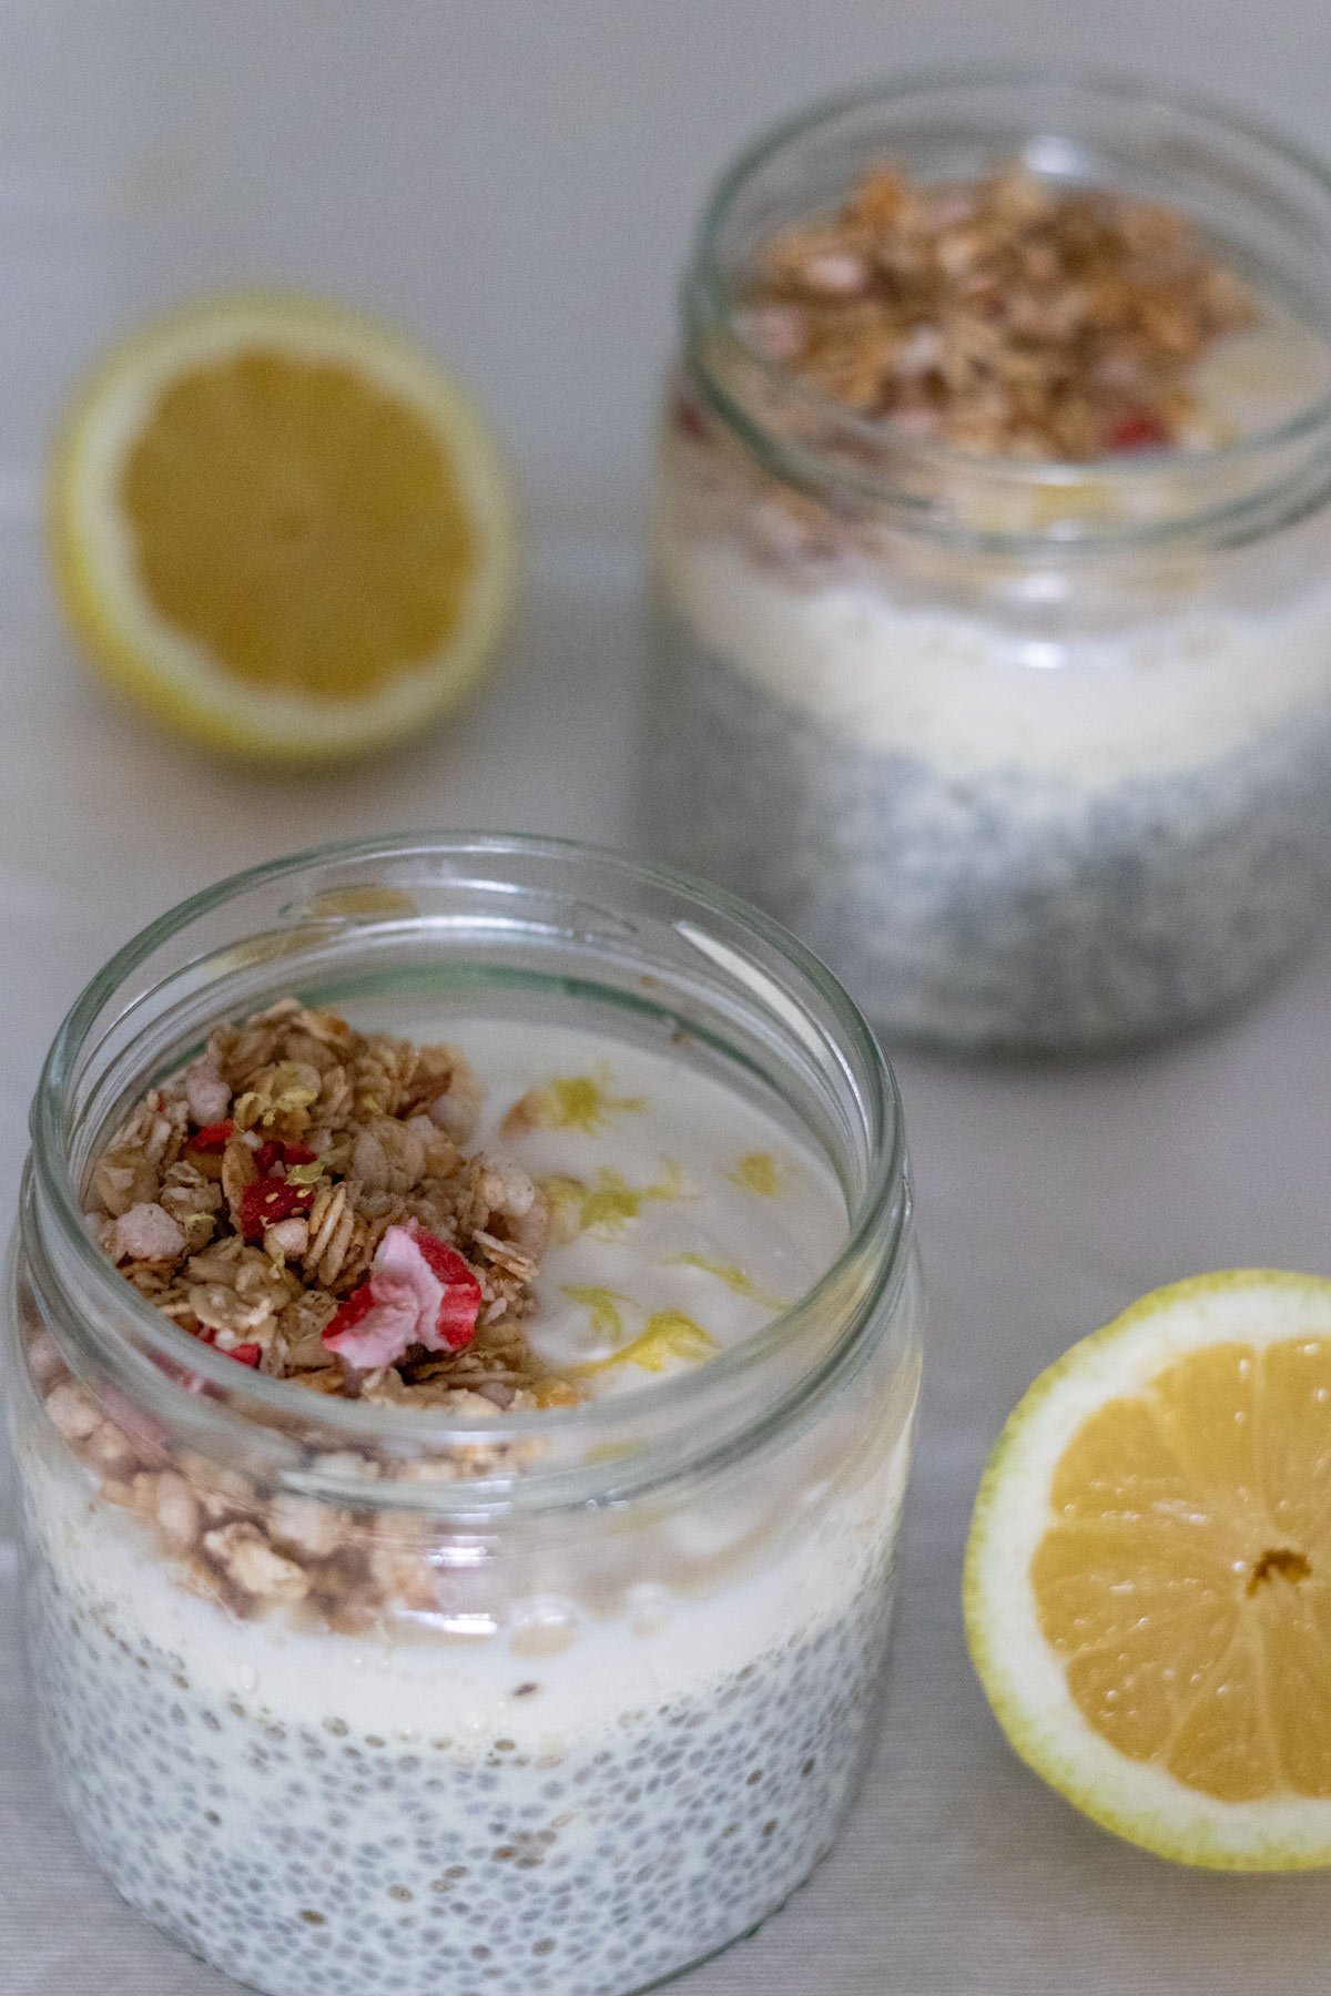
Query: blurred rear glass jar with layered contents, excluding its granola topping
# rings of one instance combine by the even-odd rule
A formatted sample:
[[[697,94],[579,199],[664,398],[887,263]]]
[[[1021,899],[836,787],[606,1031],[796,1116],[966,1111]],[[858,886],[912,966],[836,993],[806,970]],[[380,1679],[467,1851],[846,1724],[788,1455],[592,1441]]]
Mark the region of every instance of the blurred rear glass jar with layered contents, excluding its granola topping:
[[[1265,315],[1205,363],[1227,441],[986,457],[856,417],[764,355],[742,311],[756,251],[882,160],[926,182],[1020,162],[1191,216]],[[848,98],[724,176],[682,321],[653,531],[653,848],[788,922],[892,1034],[1111,1046],[1259,986],[1331,874],[1321,168],[1113,86]]]

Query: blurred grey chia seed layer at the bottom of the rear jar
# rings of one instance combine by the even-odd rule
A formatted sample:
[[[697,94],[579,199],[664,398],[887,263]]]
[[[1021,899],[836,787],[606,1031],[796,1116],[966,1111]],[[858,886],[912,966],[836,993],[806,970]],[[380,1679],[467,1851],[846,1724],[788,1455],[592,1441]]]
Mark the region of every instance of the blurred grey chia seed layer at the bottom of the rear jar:
[[[1088,790],[868,750],[661,611],[655,850],[792,928],[888,1032],[1058,1052],[1239,1004],[1315,932],[1331,713]]]

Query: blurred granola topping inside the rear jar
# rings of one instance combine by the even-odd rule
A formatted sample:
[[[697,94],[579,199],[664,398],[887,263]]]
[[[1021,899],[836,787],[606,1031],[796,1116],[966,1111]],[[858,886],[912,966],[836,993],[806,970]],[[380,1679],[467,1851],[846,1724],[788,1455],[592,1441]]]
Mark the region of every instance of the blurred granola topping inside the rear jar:
[[[1175,445],[1195,415],[1189,371],[1255,319],[1173,210],[1022,166],[966,184],[880,166],[764,248],[742,329],[910,435],[1094,461]]]

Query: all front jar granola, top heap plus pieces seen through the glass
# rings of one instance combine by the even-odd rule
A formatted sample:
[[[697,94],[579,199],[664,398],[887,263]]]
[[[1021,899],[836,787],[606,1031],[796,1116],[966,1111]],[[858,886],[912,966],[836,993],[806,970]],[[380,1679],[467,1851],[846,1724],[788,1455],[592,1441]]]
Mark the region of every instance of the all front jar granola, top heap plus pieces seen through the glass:
[[[519,1166],[465,1152],[481,1106],[455,1046],[359,1034],[285,998],[220,1026],[186,1074],[144,1096],[92,1168],[90,1226],[140,1295],[255,1371],[467,1423],[569,1405],[579,1387],[523,1329],[551,1206]],[[96,1399],[20,1307],[52,1427],[186,1587],[241,1617],[335,1629],[447,1611],[427,1519],[263,1491],[172,1449]],[[455,1483],[531,1455],[477,1433],[411,1459],[339,1451],[311,1467],[369,1495],[383,1477]]]

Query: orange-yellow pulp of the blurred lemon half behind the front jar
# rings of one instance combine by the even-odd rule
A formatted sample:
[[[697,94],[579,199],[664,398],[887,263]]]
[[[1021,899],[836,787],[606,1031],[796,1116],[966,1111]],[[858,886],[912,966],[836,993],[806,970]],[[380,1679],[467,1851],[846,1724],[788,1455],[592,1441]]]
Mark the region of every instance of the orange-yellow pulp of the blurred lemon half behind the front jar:
[[[172,381],[122,503],[154,609],[255,687],[365,699],[457,629],[475,535],[453,467],[345,363],[247,347]]]

